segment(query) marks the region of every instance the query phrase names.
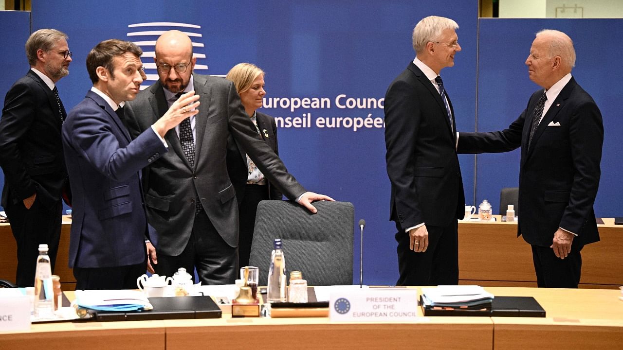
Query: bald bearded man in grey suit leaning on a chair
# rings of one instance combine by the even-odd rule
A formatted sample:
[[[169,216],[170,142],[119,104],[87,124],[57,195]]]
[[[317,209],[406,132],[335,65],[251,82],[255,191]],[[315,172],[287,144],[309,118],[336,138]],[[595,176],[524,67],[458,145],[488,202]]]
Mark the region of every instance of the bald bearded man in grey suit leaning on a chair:
[[[193,74],[191,39],[169,31],[156,41],[159,81],[128,103],[126,122],[134,138],[158,120],[179,93],[199,95],[196,116],[169,130],[173,151],[143,171],[148,222],[155,229],[148,242],[153,269],[173,275],[179,267],[197,268],[204,284],[234,283],[238,261],[238,208],[227,174],[227,138],[234,136],[271,182],[311,212],[312,201],[330,197],[307,192],[288,174],[278,156],[260,138],[229,80]]]

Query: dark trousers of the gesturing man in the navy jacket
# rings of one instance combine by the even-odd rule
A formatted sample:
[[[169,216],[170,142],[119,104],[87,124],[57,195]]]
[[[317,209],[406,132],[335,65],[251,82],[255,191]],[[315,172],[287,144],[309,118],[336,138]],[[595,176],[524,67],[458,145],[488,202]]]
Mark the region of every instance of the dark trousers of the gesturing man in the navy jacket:
[[[74,267],[76,289],[136,289],[138,288],[136,280],[146,273],[146,270],[147,260],[136,265],[118,267]]]

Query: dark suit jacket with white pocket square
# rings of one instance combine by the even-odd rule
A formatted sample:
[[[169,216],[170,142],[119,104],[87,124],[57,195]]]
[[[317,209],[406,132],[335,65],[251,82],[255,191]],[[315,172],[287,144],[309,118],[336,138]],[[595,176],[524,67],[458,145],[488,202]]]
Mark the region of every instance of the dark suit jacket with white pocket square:
[[[571,78],[543,116],[528,149],[533,110],[543,92],[533,93],[508,129],[460,133],[458,150],[505,152],[521,146],[518,235],[532,245],[549,247],[562,227],[578,234],[573,245],[581,247],[599,240],[592,205],[601,175],[601,112]]]

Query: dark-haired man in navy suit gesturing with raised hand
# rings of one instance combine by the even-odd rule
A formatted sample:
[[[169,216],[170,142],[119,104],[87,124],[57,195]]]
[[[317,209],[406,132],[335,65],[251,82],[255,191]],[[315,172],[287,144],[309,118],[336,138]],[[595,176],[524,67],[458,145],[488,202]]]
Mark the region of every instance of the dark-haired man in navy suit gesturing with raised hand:
[[[182,95],[135,140],[123,105],[143,82],[143,51],[131,42],[100,42],[87,56],[93,87],[62,130],[74,212],[69,266],[76,288],[131,289],[146,270],[148,237],[140,170],[168,151],[164,135],[198,113],[198,96]]]

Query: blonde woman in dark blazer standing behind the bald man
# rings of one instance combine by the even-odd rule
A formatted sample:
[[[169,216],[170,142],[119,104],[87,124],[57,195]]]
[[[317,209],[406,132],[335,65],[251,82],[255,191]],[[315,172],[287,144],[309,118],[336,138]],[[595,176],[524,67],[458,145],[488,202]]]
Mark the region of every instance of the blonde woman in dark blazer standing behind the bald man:
[[[257,126],[257,133],[275,153],[279,154],[275,119],[256,111],[257,108],[262,107],[264,95],[266,95],[264,71],[253,64],[241,63],[235,65],[227,73],[226,78],[234,82],[247,115]],[[233,138],[230,138],[227,147],[227,171],[229,171],[229,177],[234,184],[238,200],[240,217],[239,265],[243,267],[249,265],[257,204],[264,199],[282,199],[282,193],[277,187],[270,184],[264,174],[247,156],[244,149]]]

